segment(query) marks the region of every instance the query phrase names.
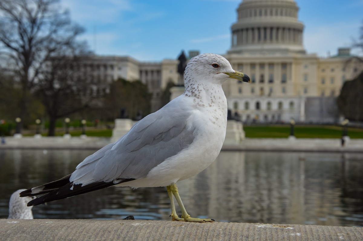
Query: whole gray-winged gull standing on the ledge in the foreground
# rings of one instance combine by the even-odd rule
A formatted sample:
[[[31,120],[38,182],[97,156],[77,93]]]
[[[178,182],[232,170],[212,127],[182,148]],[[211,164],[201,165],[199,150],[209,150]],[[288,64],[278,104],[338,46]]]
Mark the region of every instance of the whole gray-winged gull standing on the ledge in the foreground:
[[[227,100],[222,83],[228,78],[250,82],[220,55],[192,58],[184,72],[183,95],[144,117],[115,143],[85,158],[72,174],[21,192],[21,196],[46,193],[28,203],[38,205],[109,186],[166,186],[172,220],[214,221],[190,217],[175,183],[200,173],[217,158],[226,134]],[[176,214],[173,196],[181,217]]]

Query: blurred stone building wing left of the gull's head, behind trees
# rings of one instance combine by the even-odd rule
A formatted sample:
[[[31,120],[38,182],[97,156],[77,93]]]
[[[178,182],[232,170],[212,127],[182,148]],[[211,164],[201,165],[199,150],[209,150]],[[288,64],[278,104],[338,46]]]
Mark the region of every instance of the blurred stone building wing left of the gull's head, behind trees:
[[[140,80],[152,93],[151,111],[160,108],[161,92],[168,82],[177,83],[177,60],[164,59],[161,62],[140,62],[131,57],[97,56],[82,60],[81,69],[89,76],[89,93],[109,92],[110,83],[122,78],[128,81]]]

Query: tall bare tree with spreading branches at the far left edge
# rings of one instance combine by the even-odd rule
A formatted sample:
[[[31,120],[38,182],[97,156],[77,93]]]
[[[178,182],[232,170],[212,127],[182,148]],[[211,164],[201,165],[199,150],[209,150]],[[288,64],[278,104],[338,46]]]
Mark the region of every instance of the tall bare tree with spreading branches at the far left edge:
[[[0,1],[0,54],[19,81],[22,120],[45,63],[83,32],[70,21],[69,12],[60,9],[58,0]]]

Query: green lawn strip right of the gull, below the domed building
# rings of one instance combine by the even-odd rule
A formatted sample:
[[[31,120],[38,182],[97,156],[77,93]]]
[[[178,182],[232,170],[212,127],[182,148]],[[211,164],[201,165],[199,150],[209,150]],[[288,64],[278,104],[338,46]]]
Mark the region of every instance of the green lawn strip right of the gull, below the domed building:
[[[290,135],[289,125],[244,125],[244,131],[248,138],[287,138]],[[339,126],[295,126],[295,136],[297,138],[340,138],[342,128]],[[350,138],[362,138],[363,129],[348,128]]]

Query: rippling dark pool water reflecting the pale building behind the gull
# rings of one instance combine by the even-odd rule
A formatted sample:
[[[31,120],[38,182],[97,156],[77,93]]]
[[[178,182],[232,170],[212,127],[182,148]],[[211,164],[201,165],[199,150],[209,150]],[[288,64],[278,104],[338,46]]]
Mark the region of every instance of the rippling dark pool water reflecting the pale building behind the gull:
[[[89,150],[0,150],[0,217],[14,190],[72,172]],[[363,226],[361,154],[221,152],[178,183],[187,211],[218,221]],[[111,187],[33,208],[34,218],[169,220],[164,187]]]

